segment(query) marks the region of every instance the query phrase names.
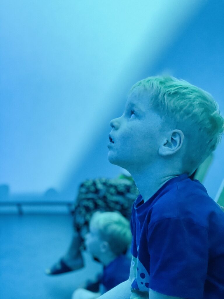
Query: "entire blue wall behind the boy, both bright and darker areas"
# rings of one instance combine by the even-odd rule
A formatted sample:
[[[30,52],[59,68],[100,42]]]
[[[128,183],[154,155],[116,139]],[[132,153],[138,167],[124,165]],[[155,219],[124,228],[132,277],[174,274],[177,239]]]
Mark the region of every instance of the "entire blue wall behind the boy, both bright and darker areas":
[[[72,198],[83,179],[117,175],[109,121],[143,77],[169,72],[224,110],[221,0],[0,5],[0,184],[12,194],[53,187]],[[222,149],[205,180],[211,196],[224,176]]]

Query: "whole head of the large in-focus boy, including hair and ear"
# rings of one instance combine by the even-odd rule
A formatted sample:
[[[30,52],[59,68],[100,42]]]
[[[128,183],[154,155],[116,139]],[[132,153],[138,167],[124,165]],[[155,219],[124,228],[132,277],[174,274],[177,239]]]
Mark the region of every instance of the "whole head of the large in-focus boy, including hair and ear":
[[[179,174],[190,175],[217,147],[224,120],[211,94],[184,80],[158,76],[131,88],[123,115],[111,127],[111,163],[130,171],[163,159]]]

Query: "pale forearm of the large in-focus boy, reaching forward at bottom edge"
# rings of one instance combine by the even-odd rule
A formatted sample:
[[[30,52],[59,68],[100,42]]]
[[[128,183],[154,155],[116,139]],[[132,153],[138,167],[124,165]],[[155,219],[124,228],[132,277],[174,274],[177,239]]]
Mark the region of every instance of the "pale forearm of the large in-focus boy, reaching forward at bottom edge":
[[[131,260],[131,267],[130,267],[130,275],[128,280],[120,283],[118,286],[115,286],[110,291],[106,292],[98,299],[130,299],[131,296],[131,283],[134,280],[134,270],[132,266]]]

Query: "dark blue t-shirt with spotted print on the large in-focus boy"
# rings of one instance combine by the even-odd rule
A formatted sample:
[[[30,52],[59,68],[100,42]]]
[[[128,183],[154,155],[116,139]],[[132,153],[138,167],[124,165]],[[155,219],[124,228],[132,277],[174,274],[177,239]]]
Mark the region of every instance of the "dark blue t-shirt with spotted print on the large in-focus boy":
[[[199,181],[182,174],[145,203],[139,195],[131,231],[133,292],[224,298],[224,213]]]

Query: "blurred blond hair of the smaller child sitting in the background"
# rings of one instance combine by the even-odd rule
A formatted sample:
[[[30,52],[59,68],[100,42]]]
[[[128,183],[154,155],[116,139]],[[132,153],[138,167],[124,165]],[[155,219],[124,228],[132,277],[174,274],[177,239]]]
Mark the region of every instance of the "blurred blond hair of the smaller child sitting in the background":
[[[117,256],[131,245],[130,223],[119,212],[96,212],[91,218],[90,225],[99,231],[100,237],[109,243]]]

